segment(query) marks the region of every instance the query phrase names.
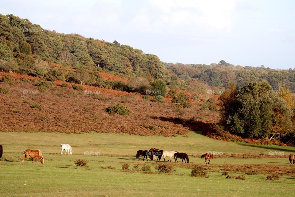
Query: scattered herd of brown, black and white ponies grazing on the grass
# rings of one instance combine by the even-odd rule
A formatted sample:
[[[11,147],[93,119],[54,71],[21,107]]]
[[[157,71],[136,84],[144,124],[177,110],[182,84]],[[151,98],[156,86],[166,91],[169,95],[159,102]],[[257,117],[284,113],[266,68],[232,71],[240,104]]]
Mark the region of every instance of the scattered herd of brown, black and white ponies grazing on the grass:
[[[63,154],[64,150],[65,150],[65,154],[67,154],[68,152],[69,155],[73,155],[73,149],[69,144],[61,144],[61,155]],[[2,155],[3,155],[3,147],[2,145],[0,145],[0,158],[2,157]],[[44,157],[39,149],[38,150],[26,149],[22,151],[22,154],[19,156],[19,158],[21,158],[22,155],[25,155],[24,158],[22,159],[22,163],[24,163],[25,159],[26,159],[26,163],[28,163],[28,156],[33,158],[33,163],[35,160],[38,163],[39,158],[40,158],[40,162],[42,164],[44,163]],[[175,159],[174,162],[178,162],[177,159],[179,158],[179,159],[182,159],[181,163],[183,163],[183,160],[184,160],[184,163],[190,163],[190,159],[188,158],[188,155],[186,153],[180,153],[177,151],[163,151],[157,148],[151,148],[150,150],[145,150],[145,151],[138,150],[136,152],[136,158],[138,161],[140,161],[140,156],[144,156],[144,158],[146,158],[147,161],[148,159],[154,160],[158,156],[157,161],[158,160],[160,161],[161,158],[163,158],[164,161],[166,162],[165,157],[170,157],[170,159],[168,159],[167,162],[169,161],[171,162],[171,159],[173,157]],[[210,164],[210,160],[212,158],[213,158],[213,154],[211,153],[205,153],[204,155],[201,155],[201,159],[205,159],[206,164],[207,164],[207,159],[208,159],[208,164]],[[292,163],[292,161],[293,161],[293,164],[295,164],[295,155],[290,154],[289,161],[290,161],[290,164]]]

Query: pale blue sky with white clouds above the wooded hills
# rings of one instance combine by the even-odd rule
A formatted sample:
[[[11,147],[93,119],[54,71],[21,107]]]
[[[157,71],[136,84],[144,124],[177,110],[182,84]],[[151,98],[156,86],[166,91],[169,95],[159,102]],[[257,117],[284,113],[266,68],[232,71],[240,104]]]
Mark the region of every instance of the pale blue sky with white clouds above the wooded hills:
[[[0,13],[116,40],[163,62],[295,68],[293,0],[0,0]]]

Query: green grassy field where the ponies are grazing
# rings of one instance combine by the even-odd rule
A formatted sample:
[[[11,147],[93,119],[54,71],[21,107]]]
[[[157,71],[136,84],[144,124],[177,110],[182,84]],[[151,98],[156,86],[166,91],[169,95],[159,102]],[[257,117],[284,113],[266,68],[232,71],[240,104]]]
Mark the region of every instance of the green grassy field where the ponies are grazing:
[[[286,196],[293,195],[295,165],[287,155],[294,147],[251,145],[207,138],[198,132],[189,137],[137,136],[127,134],[61,134],[0,132],[3,158],[0,161],[1,196]],[[60,143],[69,143],[73,155],[60,155]],[[190,164],[169,163],[171,174],[158,173],[157,161],[140,161],[136,151],[149,148],[175,150],[188,155],[208,151],[221,154],[281,154],[281,158],[221,157],[205,165],[199,157],[191,157]],[[27,148],[40,149],[45,162],[21,163],[18,156]],[[89,167],[76,167],[74,160],[88,160]],[[167,160],[167,159],[166,159]],[[173,160],[174,161],[174,160]],[[130,163],[130,170],[121,165]],[[209,178],[191,177],[193,165],[206,167]],[[139,169],[132,168],[139,165]],[[103,169],[111,166],[114,169]],[[151,173],[140,171],[150,166]],[[245,180],[226,179],[242,175]],[[257,175],[245,175],[256,170]],[[294,173],[293,173],[294,172]],[[279,174],[279,180],[266,180],[267,175]]]

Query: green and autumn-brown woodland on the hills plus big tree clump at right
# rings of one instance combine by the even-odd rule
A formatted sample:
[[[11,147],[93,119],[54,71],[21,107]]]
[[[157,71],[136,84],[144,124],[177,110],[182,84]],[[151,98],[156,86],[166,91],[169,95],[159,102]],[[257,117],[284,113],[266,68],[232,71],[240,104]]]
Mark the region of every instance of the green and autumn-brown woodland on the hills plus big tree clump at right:
[[[291,68],[234,66],[224,60],[210,65],[166,63],[117,41],[61,34],[28,19],[0,14],[0,70],[40,76],[44,81],[38,87],[60,80],[140,94],[155,90],[154,98],[143,98],[165,102],[163,96],[168,94],[175,108],[201,102],[201,110],[208,111],[218,111],[208,90],[224,90],[218,92],[222,119],[216,135],[289,143],[294,134],[295,70]],[[129,80],[104,80],[101,71]]]

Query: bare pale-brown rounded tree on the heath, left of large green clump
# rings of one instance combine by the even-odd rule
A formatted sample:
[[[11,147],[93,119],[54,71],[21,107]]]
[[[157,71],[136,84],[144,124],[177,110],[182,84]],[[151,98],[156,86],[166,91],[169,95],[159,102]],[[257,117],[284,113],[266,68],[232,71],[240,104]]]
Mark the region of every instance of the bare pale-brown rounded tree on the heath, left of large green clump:
[[[187,83],[187,90],[190,92],[191,98],[195,99],[196,102],[207,100],[210,89],[210,85],[199,80],[192,79]]]

